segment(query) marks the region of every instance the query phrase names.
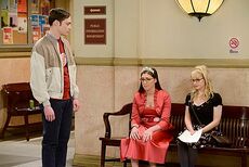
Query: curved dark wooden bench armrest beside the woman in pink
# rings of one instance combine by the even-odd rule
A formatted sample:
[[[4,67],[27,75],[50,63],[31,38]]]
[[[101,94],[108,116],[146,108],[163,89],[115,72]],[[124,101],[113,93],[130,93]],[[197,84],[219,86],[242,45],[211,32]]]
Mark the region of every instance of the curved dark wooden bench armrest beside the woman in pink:
[[[115,113],[104,113],[103,120],[105,124],[105,138],[110,138],[112,134],[112,127],[109,124],[109,116],[123,116],[127,114],[131,114],[132,111],[132,103],[126,104],[122,106],[122,108]]]

